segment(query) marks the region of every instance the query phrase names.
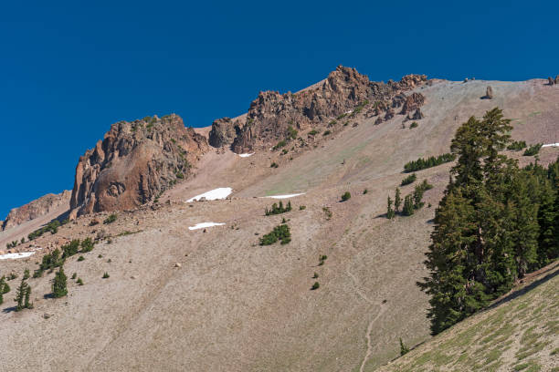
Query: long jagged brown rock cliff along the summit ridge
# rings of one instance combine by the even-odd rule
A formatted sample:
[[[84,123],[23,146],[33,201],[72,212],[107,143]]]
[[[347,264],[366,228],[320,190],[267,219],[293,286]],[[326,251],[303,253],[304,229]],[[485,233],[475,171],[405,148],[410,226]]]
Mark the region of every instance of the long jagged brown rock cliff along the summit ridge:
[[[425,75],[409,75],[398,82],[377,83],[354,68],[340,66],[322,83],[299,93],[260,92],[250,104],[245,122],[233,123],[227,118],[214,122],[210,144],[231,146],[240,153],[284,140],[290,135],[290,127],[319,128],[344,114],[363,111],[361,114],[367,117],[382,115],[390,119],[395,115],[394,108],[404,106],[406,114],[424,103],[421,94],[407,97],[404,92],[425,81]]]

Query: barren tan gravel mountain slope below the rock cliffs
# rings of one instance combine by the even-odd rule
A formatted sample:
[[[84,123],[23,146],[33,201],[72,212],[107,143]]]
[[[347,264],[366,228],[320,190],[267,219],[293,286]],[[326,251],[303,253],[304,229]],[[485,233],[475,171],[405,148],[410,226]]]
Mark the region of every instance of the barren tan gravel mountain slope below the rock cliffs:
[[[163,195],[163,205],[121,212],[110,225],[90,227],[93,216],[84,216],[63,226],[58,237],[85,238],[100,229],[113,236],[142,232],[99,243],[82,262],[71,257],[65,270],[85,285],[69,281],[68,298],[43,298],[53,274],[29,281],[33,310],[10,311],[14,293],[5,294],[0,369],[358,371],[394,358],[400,336],[408,345],[426,340],[427,296],[415,283],[426,274],[429,222],[450,164],[417,172],[419,181],[435,185],[425,195],[431,208],[389,222],[386,196],[405,177],[404,163],[448,152],[460,123],[495,106],[518,119],[515,139],[559,141],[550,140],[559,131],[559,89],[542,80],[490,82],[495,98],[480,99],[487,85],[436,81],[420,89],[426,118],[417,129],[403,129],[404,117],[396,115],[378,126],[374,118],[355,127],[352,120],[286,155],[211,151],[194,178]],[[558,154],[545,148],[540,157]],[[279,168],[270,168],[272,161]],[[403,187],[403,194],[413,186]],[[184,203],[218,187],[232,187],[232,198]],[[339,202],[343,191],[352,193],[348,202]],[[255,198],[294,192],[305,194],[291,199],[292,212],[278,216],[264,216],[275,201]],[[289,220],[291,243],[259,246],[258,238],[282,217]],[[206,233],[187,229],[198,222],[227,225]],[[321,254],[328,259],[319,266]],[[21,274],[38,258],[0,261],[0,273]],[[104,272],[111,277],[101,279]],[[312,279],[315,272],[318,279]],[[311,291],[315,281],[321,287]]]

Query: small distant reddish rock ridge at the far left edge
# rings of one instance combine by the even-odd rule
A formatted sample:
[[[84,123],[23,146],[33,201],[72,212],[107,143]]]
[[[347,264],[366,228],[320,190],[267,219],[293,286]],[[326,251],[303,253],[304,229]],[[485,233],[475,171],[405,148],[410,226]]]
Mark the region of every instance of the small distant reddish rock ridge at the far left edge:
[[[26,221],[35,220],[37,217],[43,216],[48,212],[58,209],[58,207],[64,205],[69,208],[69,200],[71,196],[71,191],[63,191],[59,194],[47,194],[38,198],[33,202],[29,202],[26,205],[22,205],[19,208],[14,208],[11,210],[4,222],[0,222],[0,228],[2,230],[8,229],[10,227],[17,226]]]

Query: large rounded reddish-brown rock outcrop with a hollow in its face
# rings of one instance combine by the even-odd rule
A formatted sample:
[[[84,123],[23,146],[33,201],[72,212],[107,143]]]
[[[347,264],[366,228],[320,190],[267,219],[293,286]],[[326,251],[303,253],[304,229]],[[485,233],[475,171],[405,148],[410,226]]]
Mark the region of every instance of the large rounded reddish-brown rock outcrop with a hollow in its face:
[[[70,217],[127,210],[184,179],[208,149],[204,136],[168,115],[112,124],[104,140],[79,158]]]

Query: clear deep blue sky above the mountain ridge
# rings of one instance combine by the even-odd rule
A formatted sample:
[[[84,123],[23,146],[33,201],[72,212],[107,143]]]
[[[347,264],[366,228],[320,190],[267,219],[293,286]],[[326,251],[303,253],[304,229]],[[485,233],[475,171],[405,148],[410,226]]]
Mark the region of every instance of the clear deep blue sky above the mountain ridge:
[[[556,1],[79,3],[0,5],[0,219],[70,190],[121,119],[207,126],[340,64],[374,80],[559,74]]]

